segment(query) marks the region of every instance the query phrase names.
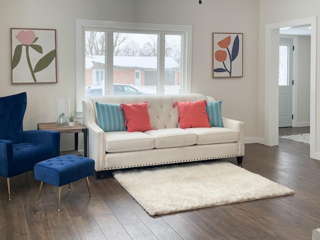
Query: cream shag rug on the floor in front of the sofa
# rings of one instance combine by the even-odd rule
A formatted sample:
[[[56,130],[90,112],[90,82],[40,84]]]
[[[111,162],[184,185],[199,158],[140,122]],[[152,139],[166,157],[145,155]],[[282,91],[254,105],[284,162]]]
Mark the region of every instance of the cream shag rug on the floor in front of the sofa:
[[[293,193],[223,160],[120,170],[113,176],[150,215]]]

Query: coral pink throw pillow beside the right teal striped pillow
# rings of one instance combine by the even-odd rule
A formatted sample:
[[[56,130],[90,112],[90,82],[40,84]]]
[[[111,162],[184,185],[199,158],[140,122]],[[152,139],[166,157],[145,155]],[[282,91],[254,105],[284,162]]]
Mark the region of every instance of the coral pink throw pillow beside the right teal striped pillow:
[[[209,117],[206,113],[206,100],[199,101],[177,101],[179,111],[179,123],[181,128],[188,127],[210,127]]]

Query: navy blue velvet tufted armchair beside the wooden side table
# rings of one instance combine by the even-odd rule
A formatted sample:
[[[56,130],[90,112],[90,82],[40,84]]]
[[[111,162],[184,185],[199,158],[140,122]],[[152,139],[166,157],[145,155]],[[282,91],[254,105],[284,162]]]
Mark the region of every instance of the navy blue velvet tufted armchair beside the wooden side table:
[[[35,163],[55,157],[60,151],[60,132],[23,131],[26,92],[0,97],[0,176],[10,177],[33,170]]]

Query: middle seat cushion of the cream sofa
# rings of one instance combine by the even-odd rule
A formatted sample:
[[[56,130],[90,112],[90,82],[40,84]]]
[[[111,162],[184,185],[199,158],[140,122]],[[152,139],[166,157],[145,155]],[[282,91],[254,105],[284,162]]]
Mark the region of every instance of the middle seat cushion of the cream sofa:
[[[182,128],[165,128],[145,131],[154,137],[155,148],[189,146],[196,143],[196,134]]]

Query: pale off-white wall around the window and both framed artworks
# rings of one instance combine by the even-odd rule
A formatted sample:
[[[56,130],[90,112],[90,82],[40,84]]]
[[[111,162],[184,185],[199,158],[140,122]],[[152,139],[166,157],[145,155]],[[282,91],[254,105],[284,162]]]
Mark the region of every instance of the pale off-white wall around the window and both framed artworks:
[[[70,97],[75,110],[75,19],[102,19],[193,26],[192,92],[222,100],[222,114],[245,122],[245,137],[257,136],[257,0],[11,0],[0,8],[0,96],[27,92],[24,129],[55,121],[56,97]],[[57,37],[56,84],[10,83],[10,27],[54,28]],[[243,77],[211,77],[212,32],[243,33]],[[72,148],[61,138],[61,149]]]

